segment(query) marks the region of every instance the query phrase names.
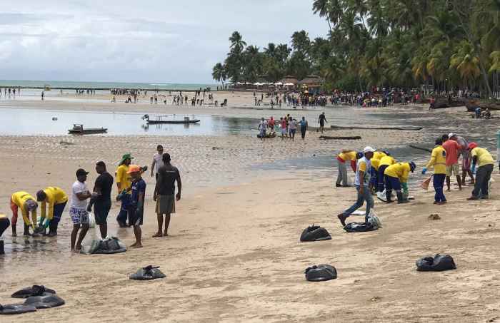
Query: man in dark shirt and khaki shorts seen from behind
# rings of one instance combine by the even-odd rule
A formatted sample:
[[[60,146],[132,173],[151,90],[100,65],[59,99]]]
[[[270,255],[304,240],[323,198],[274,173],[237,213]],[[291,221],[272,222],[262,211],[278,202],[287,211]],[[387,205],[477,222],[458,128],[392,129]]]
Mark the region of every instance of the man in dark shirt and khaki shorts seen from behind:
[[[164,165],[159,169],[158,180],[154,188],[153,200],[156,201],[156,217],[158,219],[158,232],[153,237],[161,237],[163,227],[163,216],[165,215],[165,229],[163,237],[169,235],[170,215],[175,213],[175,201],[181,200],[181,174],[179,170],[171,165],[170,155],[163,155]],[[175,194],[175,183],[177,182],[177,194]]]

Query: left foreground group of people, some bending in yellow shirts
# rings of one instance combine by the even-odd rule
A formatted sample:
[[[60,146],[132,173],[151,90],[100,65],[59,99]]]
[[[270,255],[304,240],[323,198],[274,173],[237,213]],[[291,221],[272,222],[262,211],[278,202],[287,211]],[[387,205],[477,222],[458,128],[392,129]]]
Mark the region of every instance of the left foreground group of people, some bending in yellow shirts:
[[[146,201],[146,181],[142,175],[147,166],[132,165],[134,158],[130,154],[122,156],[116,168],[116,200],[121,203],[119,214],[116,217],[119,227],[133,227],[136,241],[130,247],[142,247],[141,225],[144,222],[144,202]],[[17,220],[19,212],[24,222],[23,235],[37,237],[45,235],[56,237],[59,222],[69,202],[69,215],[73,222],[70,237],[70,249],[74,252],[81,250],[81,242],[89,230],[90,212],[94,211],[96,225],[102,239],[108,235],[107,217],[111,210],[111,192],[114,178],[106,170],[106,163],[96,163],[96,180],[93,190],[89,190],[86,181],[89,172],[79,168],[76,170],[76,181],[71,186],[71,199],[59,187],[49,186],[31,195],[25,191],[18,191],[11,195],[11,220],[6,215],[0,215],[0,237],[9,225],[12,236],[17,235]],[[179,170],[171,165],[169,153],[158,145],[153,162],[151,163],[151,177],[155,179],[153,200],[156,202],[158,231],[153,237],[168,236],[170,217],[175,213],[175,202],[181,199],[181,175]],[[177,184],[177,193],[176,185]],[[37,218],[37,210],[40,218]],[[31,217],[30,217],[31,215]],[[47,232],[47,229],[49,232]],[[31,232],[30,232],[31,230]],[[3,244],[0,252],[3,252]]]

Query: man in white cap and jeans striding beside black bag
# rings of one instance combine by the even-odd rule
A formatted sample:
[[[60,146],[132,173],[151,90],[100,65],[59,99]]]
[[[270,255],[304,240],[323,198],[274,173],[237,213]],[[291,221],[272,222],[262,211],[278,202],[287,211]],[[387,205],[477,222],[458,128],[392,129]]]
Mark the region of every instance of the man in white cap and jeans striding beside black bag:
[[[358,192],[358,198],[354,205],[349,207],[349,209],[345,210],[341,214],[337,215],[341,224],[346,226],[346,219],[349,217],[354,211],[358,210],[359,207],[363,206],[366,201],[366,214],[365,221],[368,221],[368,217],[370,214],[370,210],[374,207],[374,199],[371,197],[371,192],[369,189],[370,183],[370,172],[371,172],[371,163],[370,160],[374,156],[374,148],[365,147],[363,150],[364,156],[359,158],[356,165],[356,190]]]

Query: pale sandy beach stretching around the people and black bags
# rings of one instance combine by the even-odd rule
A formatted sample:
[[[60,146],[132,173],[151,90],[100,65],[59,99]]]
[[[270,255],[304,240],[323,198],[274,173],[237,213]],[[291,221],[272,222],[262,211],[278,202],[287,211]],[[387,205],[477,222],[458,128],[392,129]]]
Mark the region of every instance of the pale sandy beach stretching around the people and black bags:
[[[10,228],[6,230],[0,304],[15,303],[10,294],[32,284],[56,289],[66,304],[6,317],[5,322],[485,322],[500,317],[496,297],[500,252],[494,249],[500,232],[496,168],[490,200],[469,202],[471,186],[461,192],[453,186],[444,206],[433,205],[434,190],[422,190],[421,176],[411,175],[415,200],[406,205],[377,200],[375,211],[383,228],[362,234],[346,233],[336,218],[356,199],[354,188],[334,188],[335,158],[342,148],[372,145],[394,150],[399,160],[414,159],[419,173],[429,154],[413,151],[405,157],[409,144],[431,148],[431,138],[467,129],[464,136],[484,138],[482,144],[495,153],[494,127],[481,130],[484,124],[466,120],[464,108],[432,114],[413,105],[271,110],[254,108],[252,93],[214,92],[214,96],[219,102],[227,98],[229,107],[151,105],[146,98],[126,104],[123,97],[110,103],[105,95],[68,94],[48,96],[43,102],[35,97],[1,98],[0,111],[221,116],[250,119],[252,125],[261,117],[279,119],[290,113],[297,119],[305,116],[311,126],[317,126],[319,113],[325,111],[327,125],[409,124],[424,130],[328,130],[327,135],[360,135],[361,140],[322,140],[311,129],[305,142],[300,136],[295,142],[281,138],[261,142],[256,128],[231,135],[0,135],[4,163],[0,212],[9,217],[9,197],[16,190],[34,194],[57,185],[68,193],[77,168],[91,172],[87,181],[91,188],[97,161],[104,160],[109,173],[114,173],[124,153],[134,156],[133,163],[151,165],[158,144],[171,154],[184,184],[170,236],[152,238],[154,178],[149,171],[144,174],[148,187],[140,250],[116,255],[69,252],[67,210],[56,238],[11,237]],[[349,175],[353,176],[351,170]],[[114,202],[109,234],[130,245],[131,229],[116,226],[118,210]],[[429,220],[431,214],[441,219]],[[348,222],[361,219],[353,216]],[[302,230],[313,223],[326,227],[332,240],[299,242]],[[84,244],[98,232],[90,230]],[[416,272],[416,260],[436,253],[452,255],[457,270]],[[336,267],[339,277],[307,282],[306,267],[322,263]],[[146,265],[161,266],[166,279],[129,280],[131,273]]]

